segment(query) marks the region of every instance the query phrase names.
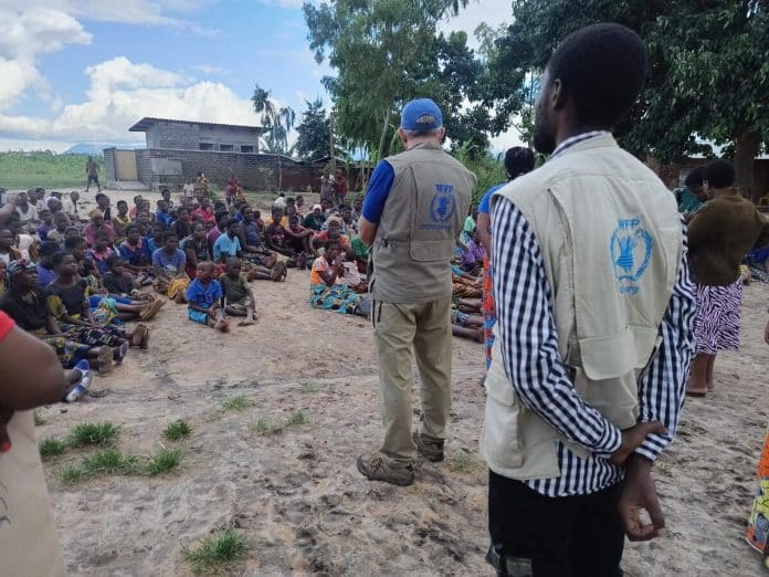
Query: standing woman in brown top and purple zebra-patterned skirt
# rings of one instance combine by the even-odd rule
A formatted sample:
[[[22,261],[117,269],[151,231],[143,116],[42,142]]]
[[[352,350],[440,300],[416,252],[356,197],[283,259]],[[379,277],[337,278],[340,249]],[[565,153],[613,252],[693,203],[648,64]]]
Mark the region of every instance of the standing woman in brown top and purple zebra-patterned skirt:
[[[697,354],[686,394],[696,397],[704,397],[713,388],[718,352],[739,349],[739,264],[756,242],[769,234],[769,222],[731,187],[734,181],[730,162],[714,160],[705,167],[703,188],[712,200],[697,211],[688,228],[689,265],[697,288]]]

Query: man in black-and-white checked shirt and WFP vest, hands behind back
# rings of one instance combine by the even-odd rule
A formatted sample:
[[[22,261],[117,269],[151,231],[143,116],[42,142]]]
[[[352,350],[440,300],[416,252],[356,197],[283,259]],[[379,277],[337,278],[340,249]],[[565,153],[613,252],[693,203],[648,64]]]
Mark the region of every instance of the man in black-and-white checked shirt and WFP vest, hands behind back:
[[[678,423],[695,297],[673,195],[611,135],[645,73],[624,27],[563,40],[536,107],[534,146],[552,154],[492,197],[481,449],[499,575],[620,576],[625,534],[664,532],[651,471]]]

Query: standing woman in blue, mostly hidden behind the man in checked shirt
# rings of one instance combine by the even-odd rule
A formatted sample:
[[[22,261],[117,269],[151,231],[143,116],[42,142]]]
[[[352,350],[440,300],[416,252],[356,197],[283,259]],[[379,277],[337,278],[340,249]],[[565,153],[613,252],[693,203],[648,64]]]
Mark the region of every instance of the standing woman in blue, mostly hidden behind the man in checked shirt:
[[[534,153],[530,148],[514,146],[505,153],[505,170],[507,179],[515,180],[526,172],[534,170]],[[492,364],[492,346],[494,346],[494,325],[496,324],[496,313],[494,312],[494,292],[492,281],[492,216],[491,200],[495,190],[505,185],[495,185],[489,188],[481,199],[478,204],[477,231],[484,249],[483,258],[483,335],[484,348],[486,349],[486,368]]]

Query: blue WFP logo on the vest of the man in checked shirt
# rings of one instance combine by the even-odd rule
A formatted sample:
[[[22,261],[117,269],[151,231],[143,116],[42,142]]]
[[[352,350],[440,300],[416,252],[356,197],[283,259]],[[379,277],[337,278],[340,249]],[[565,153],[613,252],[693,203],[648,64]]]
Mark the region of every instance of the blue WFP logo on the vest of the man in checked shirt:
[[[620,294],[638,294],[638,282],[652,259],[654,239],[640,219],[622,219],[611,235],[611,264],[620,283]]]

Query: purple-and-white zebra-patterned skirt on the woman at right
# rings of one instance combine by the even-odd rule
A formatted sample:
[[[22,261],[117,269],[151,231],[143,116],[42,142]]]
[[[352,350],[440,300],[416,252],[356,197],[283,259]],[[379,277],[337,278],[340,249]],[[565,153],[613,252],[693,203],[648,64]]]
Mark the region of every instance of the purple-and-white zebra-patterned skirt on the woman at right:
[[[697,317],[694,335],[697,355],[739,350],[742,280],[728,286],[697,284]]]

